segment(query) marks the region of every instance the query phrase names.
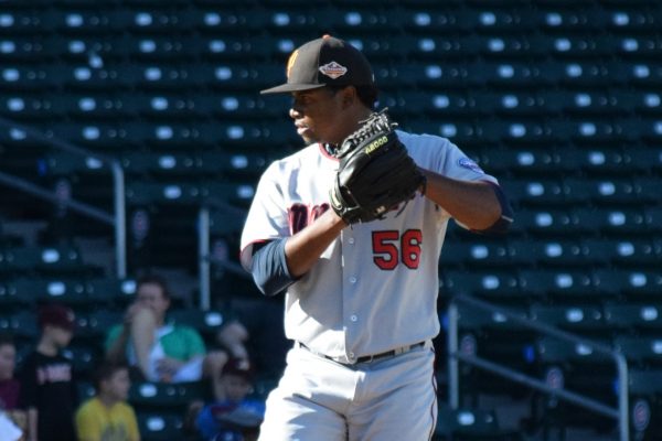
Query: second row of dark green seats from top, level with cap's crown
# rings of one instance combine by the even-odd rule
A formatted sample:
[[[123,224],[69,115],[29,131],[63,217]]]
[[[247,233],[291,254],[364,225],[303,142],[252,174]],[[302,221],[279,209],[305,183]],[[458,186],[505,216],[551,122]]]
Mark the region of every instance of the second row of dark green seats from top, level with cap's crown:
[[[137,21],[148,21],[149,15]],[[153,22],[153,20],[152,20]],[[104,64],[106,62],[151,61],[183,63],[186,61],[269,61],[287,56],[300,42],[290,37],[274,39],[268,35],[196,35],[190,33],[147,35],[108,34],[65,35],[54,34],[36,39],[32,36],[0,40],[0,53],[8,61],[32,64],[35,60],[70,60],[78,63]],[[356,35],[356,36],[354,36]],[[616,34],[533,34],[533,35],[362,35],[343,33],[353,45],[361,49],[370,60],[445,60],[498,57],[499,60],[544,60],[553,56],[558,61],[579,58],[604,60],[617,55],[630,61],[654,58],[661,50],[658,36]]]

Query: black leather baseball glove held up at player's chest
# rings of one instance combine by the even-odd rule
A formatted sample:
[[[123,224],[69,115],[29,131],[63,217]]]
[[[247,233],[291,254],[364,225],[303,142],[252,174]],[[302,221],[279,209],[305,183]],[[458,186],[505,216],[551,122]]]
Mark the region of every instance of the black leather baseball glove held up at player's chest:
[[[384,218],[384,214],[425,192],[425,176],[398,140],[386,109],[372,114],[342,142],[340,164],[330,191],[331,206],[348,224]]]

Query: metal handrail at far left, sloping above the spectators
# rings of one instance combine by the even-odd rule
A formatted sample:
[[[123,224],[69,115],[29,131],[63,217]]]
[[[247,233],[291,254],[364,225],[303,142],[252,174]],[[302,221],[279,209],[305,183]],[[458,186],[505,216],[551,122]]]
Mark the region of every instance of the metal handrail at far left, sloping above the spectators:
[[[77,154],[85,158],[94,158],[110,168],[113,174],[113,183],[114,183],[114,215],[108,214],[102,209],[98,209],[92,205],[77,202],[77,201],[65,201],[64,204],[71,207],[72,209],[88,216],[90,218],[104,222],[109,225],[115,226],[115,265],[116,265],[116,273],[118,278],[125,278],[127,276],[127,232],[126,232],[126,201],[125,201],[125,175],[121,164],[118,160],[107,157],[105,154],[92,152],[89,150],[83,149],[81,147],[74,146],[71,142],[63,141],[61,139],[54,138],[52,133],[47,136],[32,129],[30,127],[23,126],[15,121],[8,120],[6,118],[0,117],[0,126],[7,127],[9,129],[18,129],[21,130],[26,136],[34,138],[39,141],[42,141],[50,147]],[[62,201],[57,200],[54,194],[51,192],[43,190],[25,180],[22,180],[17,176],[12,176],[6,173],[2,173],[2,180],[4,184],[13,186],[15,189],[22,190],[26,193],[32,194],[33,196],[41,197],[43,200],[50,202],[62,203]]]

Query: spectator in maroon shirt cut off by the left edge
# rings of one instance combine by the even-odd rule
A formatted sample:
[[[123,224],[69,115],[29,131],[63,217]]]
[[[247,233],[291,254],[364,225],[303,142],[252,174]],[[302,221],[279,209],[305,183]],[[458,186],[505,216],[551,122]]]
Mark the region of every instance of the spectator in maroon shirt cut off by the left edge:
[[[0,412],[20,431],[26,429],[25,412],[18,408],[21,384],[14,378],[17,347],[10,334],[0,334]]]

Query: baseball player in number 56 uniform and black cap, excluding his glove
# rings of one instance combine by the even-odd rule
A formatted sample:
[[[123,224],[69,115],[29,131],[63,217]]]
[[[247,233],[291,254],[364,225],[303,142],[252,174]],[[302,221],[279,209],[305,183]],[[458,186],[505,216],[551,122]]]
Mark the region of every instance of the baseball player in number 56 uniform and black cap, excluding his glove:
[[[289,116],[307,147],[265,171],[242,235],[242,265],[258,288],[287,292],[293,342],[259,440],[429,440],[447,223],[503,233],[508,202],[447,139],[395,130],[425,184],[374,220],[343,217],[330,201],[338,152],[373,114],[377,92],[369,62],[342,40],[303,44],[289,57],[287,83],[261,93],[291,94]]]

